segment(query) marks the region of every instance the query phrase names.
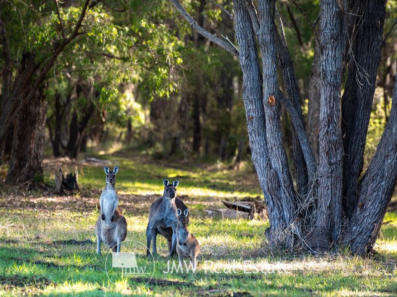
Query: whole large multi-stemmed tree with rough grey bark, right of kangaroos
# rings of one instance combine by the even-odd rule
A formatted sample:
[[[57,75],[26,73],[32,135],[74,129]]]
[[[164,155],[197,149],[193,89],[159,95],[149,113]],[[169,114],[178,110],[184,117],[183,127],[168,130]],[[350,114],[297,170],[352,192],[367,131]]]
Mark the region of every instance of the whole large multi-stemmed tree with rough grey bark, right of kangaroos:
[[[365,142],[368,126],[369,111],[366,108],[370,108],[369,102],[372,102],[374,84],[369,81],[369,87],[363,91],[364,95],[357,89],[359,82],[352,78],[357,75],[357,70],[363,67],[368,77],[371,76],[371,79],[375,80],[379,66],[379,51],[382,47],[385,0],[381,3],[375,0],[369,3],[355,0],[322,0],[319,33],[311,25],[316,43],[319,45],[313,64],[311,84],[313,87],[318,85],[319,89],[313,88],[310,92],[309,120],[315,121],[318,118],[317,113],[320,114],[320,118],[318,126],[314,121],[313,125],[308,125],[308,132],[315,152],[317,147],[319,148],[318,167],[305,134],[299,90],[286,42],[283,40],[282,27],[280,32],[274,27],[276,17],[274,0],[258,0],[258,9],[255,6],[256,1],[233,1],[239,51],[237,48],[234,50],[233,45],[232,48],[230,44],[225,45],[217,37],[198,26],[178,0],[170,1],[195,30],[240,60],[252,160],[265,195],[270,222],[270,228],[265,232],[269,242],[288,247],[293,244],[294,237],[291,235],[296,235],[295,238],[300,241],[301,235],[304,237],[310,235],[312,247],[319,251],[343,243],[356,253],[370,252],[379,235],[387,204],[397,182],[397,85],[387,128],[366,174],[356,187],[362,169],[360,144]],[[371,8],[372,6],[376,7]],[[352,17],[356,17],[357,21],[352,21]],[[347,32],[350,31],[347,28],[354,29],[353,34],[350,35],[354,38],[348,39]],[[321,42],[317,38],[318,35],[321,36]],[[261,50],[262,75],[257,44]],[[287,96],[278,89],[276,52]],[[345,86],[344,95],[344,107],[347,106],[347,109],[343,110],[343,115],[348,115],[347,111],[351,112],[348,116],[351,125],[347,128],[344,126],[344,131],[350,130],[343,143],[341,89],[342,74],[346,68],[345,56],[350,58],[349,64],[353,65],[349,65],[348,85]],[[354,64],[353,61],[356,59],[353,59],[353,56],[360,59],[361,64]],[[316,100],[319,97],[320,105]],[[358,102],[361,99],[362,101]],[[308,180],[311,180],[311,174],[315,177],[318,172],[318,182],[316,178],[313,179],[314,190],[307,197],[311,199],[311,204],[297,205],[302,201],[293,191],[286,155],[282,147],[279,102],[290,113],[296,133],[295,144],[300,146],[306,162]],[[344,124],[348,125],[346,123]],[[320,135],[317,146],[318,130]],[[355,137],[350,137],[352,134],[355,134]],[[350,166],[350,162],[354,162],[355,165],[346,169],[344,176],[342,176],[343,144],[347,150],[352,148],[353,153],[356,154],[345,158],[345,166]],[[303,161],[300,163],[298,165],[304,164]],[[344,217],[342,211],[342,190],[347,189],[343,188],[344,179],[348,179],[346,187],[351,186],[358,197],[358,202],[349,206],[354,209],[350,220],[348,220],[349,215],[346,214],[347,217]],[[298,188],[300,189],[301,185]],[[309,228],[299,229],[301,227],[299,220],[302,218],[300,207],[311,207],[316,211],[313,221],[307,225]],[[347,222],[345,235],[341,234],[342,217],[344,222]],[[302,232],[304,234],[301,234]]]

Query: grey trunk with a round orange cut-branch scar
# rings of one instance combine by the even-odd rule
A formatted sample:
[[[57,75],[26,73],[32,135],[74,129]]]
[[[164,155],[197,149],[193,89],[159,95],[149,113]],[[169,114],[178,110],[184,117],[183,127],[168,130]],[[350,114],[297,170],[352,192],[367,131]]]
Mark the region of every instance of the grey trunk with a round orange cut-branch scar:
[[[259,1],[259,24],[258,37],[262,54],[262,76],[263,76],[263,104],[265,107],[265,129],[266,146],[268,151],[268,188],[269,194],[273,196],[274,202],[282,201],[282,226],[270,225],[270,241],[278,241],[283,234],[287,242],[286,246],[292,246],[292,233],[285,232],[294,222],[295,195],[293,183],[288,167],[287,156],[283,147],[283,136],[280,127],[280,102],[277,96],[277,60],[274,40],[274,13],[275,1]],[[275,237],[275,238],[274,238]]]

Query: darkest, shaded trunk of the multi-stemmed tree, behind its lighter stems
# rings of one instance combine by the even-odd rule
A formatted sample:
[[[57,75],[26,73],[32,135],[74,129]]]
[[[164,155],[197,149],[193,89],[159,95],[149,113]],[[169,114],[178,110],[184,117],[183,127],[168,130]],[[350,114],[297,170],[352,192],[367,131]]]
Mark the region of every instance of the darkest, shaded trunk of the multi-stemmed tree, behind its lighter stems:
[[[364,148],[376,76],[381,60],[386,0],[360,1],[349,50],[349,72],[342,97],[343,210],[350,218],[357,202],[357,180],[363,168]]]

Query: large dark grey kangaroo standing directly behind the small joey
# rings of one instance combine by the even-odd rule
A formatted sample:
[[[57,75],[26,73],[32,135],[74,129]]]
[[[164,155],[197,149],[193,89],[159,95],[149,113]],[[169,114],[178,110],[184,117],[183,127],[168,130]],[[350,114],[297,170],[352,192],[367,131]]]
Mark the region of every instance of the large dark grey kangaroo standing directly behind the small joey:
[[[176,197],[179,180],[170,184],[167,179],[163,179],[163,184],[163,197],[154,201],[149,210],[149,223],[146,228],[147,255],[150,254],[151,241],[153,242],[152,253],[157,253],[157,234],[161,234],[167,239],[169,255],[172,256],[176,253],[177,207],[183,210],[187,209],[184,202]],[[189,222],[189,217],[187,217],[187,222]]]

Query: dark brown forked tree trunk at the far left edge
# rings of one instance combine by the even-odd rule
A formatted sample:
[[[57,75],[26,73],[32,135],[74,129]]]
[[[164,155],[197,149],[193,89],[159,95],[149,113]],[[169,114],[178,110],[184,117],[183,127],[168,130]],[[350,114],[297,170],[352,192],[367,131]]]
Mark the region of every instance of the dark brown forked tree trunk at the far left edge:
[[[59,40],[54,40],[51,44],[52,50],[48,56],[43,57],[39,61],[35,59],[34,52],[24,52],[22,59],[19,64],[15,63],[12,65],[11,60],[8,59],[10,50],[8,47],[8,36],[5,30],[5,24],[0,17],[0,33],[1,33],[1,45],[3,56],[5,60],[5,73],[3,76],[3,85],[1,94],[2,104],[0,114],[0,148],[4,147],[5,134],[12,127],[13,123],[16,122],[15,134],[12,145],[11,159],[17,158],[21,155],[24,149],[28,150],[26,157],[32,159],[23,163],[21,159],[10,160],[9,171],[6,178],[6,182],[22,182],[31,179],[39,168],[36,167],[36,162],[42,160],[42,149],[37,148],[40,144],[41,135],[44,135],[45,127],[41,124],[42,111],[46,108],[44,103],[41,101],[37,102],[38,106],[32,106],[32,102],[37,101],[37,92],[40,93],[40,88],[43,88],[43,82],[46,79],[48,72],[52,69],[56,59],[60,53],[70,44],[76,37],[81,34],[79,32],[82,21],[86,15],[87,9],[94,7],[99,1],[85,0],[81,13],[77,22],[71,27],[71,33],[68,36],[63,36]],[[12,69],[11,66],[13,67]],[[4,83],[4,79],[6,82]],[[36,112],[36,114],[29,114],[30,112]],[[26,123],[21,121],[20,117],[24,117],[27,121],[31,121],[33,126],[42,131],[35,131],[34,133],[24,133],[30,131],[30,128],[26,128]],[[18,126],[22,125],[22,126]],[[25,139],[22,139],[25,137]],[[23,148],[26,144],[30,145],[30,148]],[[14,151],[15,149],[21,148],[21,151]],[[22,158],[23,160],[24,158]],[[23,167],[25,166],[25,167]],[[41,168],[41,163],[40,163]],[[15,175],[15,176],[14,176]]]

